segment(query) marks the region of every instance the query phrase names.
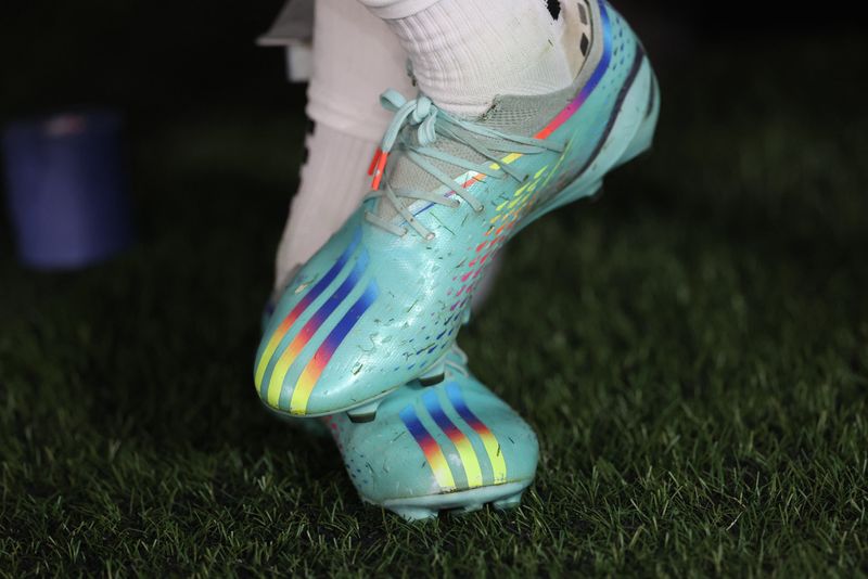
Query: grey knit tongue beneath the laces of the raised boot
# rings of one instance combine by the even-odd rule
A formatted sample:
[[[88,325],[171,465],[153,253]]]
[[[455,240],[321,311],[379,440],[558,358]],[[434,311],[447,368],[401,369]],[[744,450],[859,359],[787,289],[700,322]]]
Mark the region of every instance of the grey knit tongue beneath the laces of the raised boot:
[[[571,91],[567,89],[546,97],[498,97],[488,111],[476,118],[462,118],[462,120],[469,120],[505,134],[533,137],[569,103],[570,94]],[[417,142],[416,134],[413,134],[417,130],[416,127],[406,126],[403,130],[411,131],[411,133],[404,133],[405,139]],[[458,127],[454,127],[454,130],[459,134],[462,133]],[[477,134],[468,133],[468,139],[478,141],[484,145],[494,143],[493,140]],[[483,155],[470,146],[442,134],[429,147],[474,164],[482,164],[486,160]],[[445,160],[427,157],[427,162],[454,179],[467,171]],[[441,181],[411,162],[400,150],[394,151],[390,155],[384,181],[388,182],[393,190],[434,191],[442,186]],[[398,197],[398,202],[403,203],[405,207],[409,207],[414,200]],[[398,213],[392,203],[381,198],[378,203],[376,215],[391,220]]]

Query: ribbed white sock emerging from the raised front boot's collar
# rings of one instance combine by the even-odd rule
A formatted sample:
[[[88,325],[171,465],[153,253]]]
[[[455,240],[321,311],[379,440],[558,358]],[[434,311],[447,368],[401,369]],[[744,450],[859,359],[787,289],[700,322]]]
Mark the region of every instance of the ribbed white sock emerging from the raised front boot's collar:
[[[484,113],[498,94],[566,88],[584,60],[574,0],[557,20],[546,0],[360,1],[397,35],[422,92],[459,115]]]

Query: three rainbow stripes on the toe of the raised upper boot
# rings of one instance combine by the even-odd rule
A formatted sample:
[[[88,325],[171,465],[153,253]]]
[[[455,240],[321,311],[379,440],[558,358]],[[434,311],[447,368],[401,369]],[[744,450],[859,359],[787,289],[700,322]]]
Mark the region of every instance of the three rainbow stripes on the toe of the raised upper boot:
[[[346,303],[350,294],[359,287],[359,284],[365,278],[370,258],[368,252],[363,247],[358,250],[355,263],[353,263],[352,269],[343,282],[328,295],[317,311],[310,316],[298,333],[290,340],[290,344],[280,351],[279,356],[277,356],[277,360],[275,359],[276,353],[279,351],[280,346],[285,343],[286,336],[291,334],[298,319],[302,318],[311,304],[326,295],[326,291],[337,280],[341,272],[345,270],[353,255],[359,249],[360,243],[361,229],[358,229],[334,265],[326,272],[322,279],[310,288],[301,301],[292,308],[290,313],[281,320],[280,324],[278,324],[268,338],[268,343],[256,363],[255,379],[256,387],[259,389],[259,396],[272,408],[289,410],[292,414],[296,415],[305,415],[307,413],[310,395],[322,375],[322,372],[326,370],[326,366],[331,361],[332,356],[334,356],[334,352],[341,346],[356,322],[359,321],[362,314],[376,299],[379,294],[376,283],[370,281],[361,296],[358,297],[346,313],[337,320],[331,332],[329,332],[322,343],[317,347],[314,356],[302,370],[301,375],[292,388],[292,394],[290,395],[285,384],[290,369],[298,361],[302,351],[310,344],[317,332],[335,316],[341,305]],[[269,369],[271,370],[271,374],[266,381],[265,378],[268,375]]]

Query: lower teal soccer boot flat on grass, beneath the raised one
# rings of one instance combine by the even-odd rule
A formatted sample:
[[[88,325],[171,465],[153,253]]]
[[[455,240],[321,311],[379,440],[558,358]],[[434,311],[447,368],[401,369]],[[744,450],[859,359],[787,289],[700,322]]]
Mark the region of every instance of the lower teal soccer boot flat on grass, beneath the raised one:
[[[327,420],[363,501],[410,520],[519,505],[536,473],[536,435],[465,362],[454,347],[444,381],[398,388],[372,422]]]

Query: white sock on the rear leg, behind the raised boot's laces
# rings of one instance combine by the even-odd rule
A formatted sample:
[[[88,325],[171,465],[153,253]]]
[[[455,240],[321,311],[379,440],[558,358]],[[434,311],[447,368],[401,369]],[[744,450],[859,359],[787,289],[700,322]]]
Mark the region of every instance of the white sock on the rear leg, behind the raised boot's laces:
[[[408,97],[407,54],[380,18],[357,2],[316,0],[307,114],[316,123],[308,158],[276,259],[275,290],[337,231],[370,191],[368,167],[392,119],[380,94]]]

